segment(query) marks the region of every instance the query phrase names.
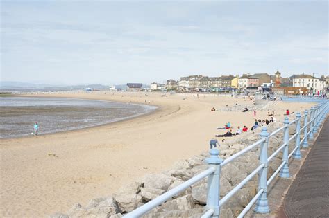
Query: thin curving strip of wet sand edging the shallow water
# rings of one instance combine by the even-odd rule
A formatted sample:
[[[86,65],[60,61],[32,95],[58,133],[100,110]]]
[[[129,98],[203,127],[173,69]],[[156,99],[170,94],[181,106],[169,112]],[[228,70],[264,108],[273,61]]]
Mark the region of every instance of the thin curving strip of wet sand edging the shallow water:
[[[65,97],[59,97],[59,96],[49,96],[48,94],[45,94],[45,96],[30,96],[24,94],[24,95],[16,95],[16,96],[9,96],[9,97],[22,97],[22,98],[65,98]],[[4,97],[6,98],[6,97]],[[92,98],[78,98],[78,97],[72,97],[74,99],[79,99],[79,100],[95,100],[95,101],[103,101],[103,102],[115,102],[112,100],[97,100],[97,99],[92,99]],[[67,98],[69,99],[69,98]],[[126,104],[130,104],[130,105],[142,105],[142,106],[152,106],[152,107],[156,107],[155,109],[151,109],[150,111],[146,112],[146,113],[142,113],[140,115],[134,115],[134,116],[130,116],[128,118],[123,118],[121,120],[117,120],[117,121],[111,121],[111,122],[107,122],[107,123],[103,123],[103,124],[99,124],[99,125],[94,125],[94,126],[90,126],[90,127],[81,127],[78,129],[71,129],[71,130],[64,130],[64,131],[56,131],[56,132],[51,132],[51,133],[46,133],[46,134],[39,134],[38,136],[51,136],[51,135],[57,135],[57,134],[64,134],[66,132],[74,132],[74,131],[83,131],[85,129],[92,129],[92,128],[96,128],[96,127],[105,127],[108,125],[115,125],[118,122],[124,122],[124,121],[129,121],[129,120],[133,120],[135,118],[140,118],[142,116],[149,116],[152,113],[156,113],[158,111],[158,109],[160,109],[159,106],[157,105],[145,105],[145,104],[140,104],[140,103],[130,103],[130,102],[119,102],[119,103],[126,103]],[[34,136],[35,137],[35,136]],[[10,139],[17,139],[17,138],[31,138],[31,136],[16,136],[16,137],[10,137],[10,138],[0,138],[0,143],[1,140],[10,140]]]

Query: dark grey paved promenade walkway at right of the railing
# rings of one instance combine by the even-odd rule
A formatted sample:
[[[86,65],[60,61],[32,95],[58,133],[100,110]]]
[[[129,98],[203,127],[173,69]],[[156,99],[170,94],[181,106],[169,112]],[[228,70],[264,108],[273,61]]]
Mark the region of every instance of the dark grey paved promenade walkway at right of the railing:
[[[287,217],[329,217],[329,118],[283,203]]]

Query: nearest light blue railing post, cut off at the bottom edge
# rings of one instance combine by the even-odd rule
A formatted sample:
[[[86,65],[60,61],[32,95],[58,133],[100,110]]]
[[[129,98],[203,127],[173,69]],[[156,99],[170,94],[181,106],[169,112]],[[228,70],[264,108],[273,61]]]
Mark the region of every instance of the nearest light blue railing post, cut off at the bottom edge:
[[[207,205],[208,209],[213,209],[214,214],[212,217],[219,217],[219,200],[220,200],[220,175],[221,175],[221,163],[223,160],[219,158],[219,150],[210,149],[210,157],[205,159],[209,167],[214,167],[216,170],[213,174],[208,176],[208,192],[207,192]]]

